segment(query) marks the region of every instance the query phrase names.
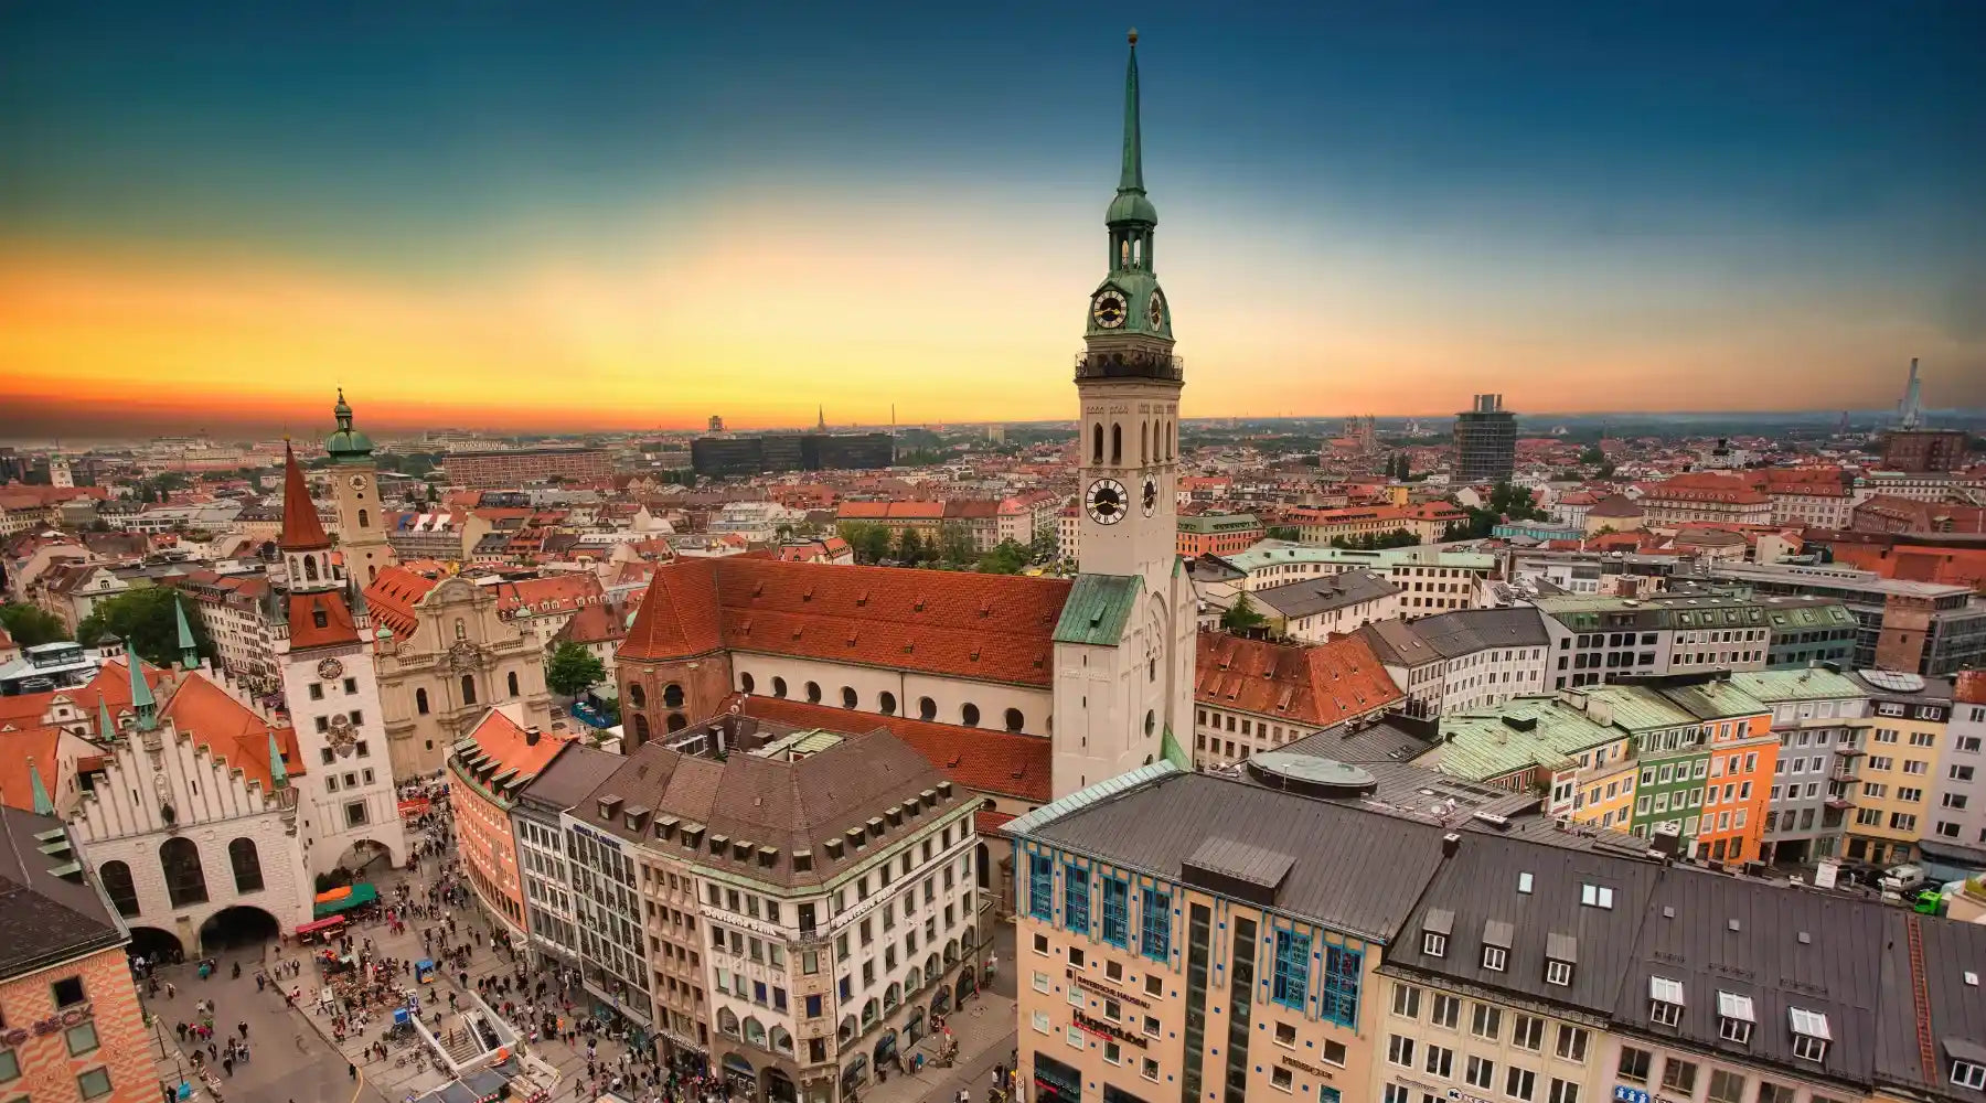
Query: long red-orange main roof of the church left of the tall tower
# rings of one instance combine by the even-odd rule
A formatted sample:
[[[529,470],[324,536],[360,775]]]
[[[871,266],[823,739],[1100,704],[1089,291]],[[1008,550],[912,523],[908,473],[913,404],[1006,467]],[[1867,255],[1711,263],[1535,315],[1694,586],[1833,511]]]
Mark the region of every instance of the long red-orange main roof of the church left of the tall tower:
[[[717,649],[1047,686],[1068,579],[731,555],[655,569],[622,659]]]

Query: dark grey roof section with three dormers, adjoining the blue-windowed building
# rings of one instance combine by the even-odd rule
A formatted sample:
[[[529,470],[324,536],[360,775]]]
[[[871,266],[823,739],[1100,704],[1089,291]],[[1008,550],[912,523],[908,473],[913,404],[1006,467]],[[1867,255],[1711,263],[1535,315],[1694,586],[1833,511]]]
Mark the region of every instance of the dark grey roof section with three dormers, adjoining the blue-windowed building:
[[[1464,833],[1456,857],[1442,863],[1386,952],[1386,964],[1609,1014],[1660,869],[1541,841]],[[1521,875],[1529,875],[1529,893],[1519,891]],[[1585,905],[1585,885],[1611,889],[1613,907]],[[1501,972],[1484,966],[1490,922],[1511,926]],[[1422,932],[1430,926],[1448,928],[1442,956],[1426,952]],[[1545,982],[1547,950],[1573,954],[1571,984]]]

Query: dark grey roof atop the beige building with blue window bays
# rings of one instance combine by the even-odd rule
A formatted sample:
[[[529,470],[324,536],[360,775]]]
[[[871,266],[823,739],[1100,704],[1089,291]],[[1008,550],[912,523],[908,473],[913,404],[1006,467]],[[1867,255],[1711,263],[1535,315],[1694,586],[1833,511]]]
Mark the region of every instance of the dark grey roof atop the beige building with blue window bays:
[[[1444,835],[1426,823],[1176,772],[1025,833],[1172,881],[1184,881],[1184,863],[1209,837],[1283,855],[1291,865],[1275,911],[1378,942],[1414,909],[1442,861]]]

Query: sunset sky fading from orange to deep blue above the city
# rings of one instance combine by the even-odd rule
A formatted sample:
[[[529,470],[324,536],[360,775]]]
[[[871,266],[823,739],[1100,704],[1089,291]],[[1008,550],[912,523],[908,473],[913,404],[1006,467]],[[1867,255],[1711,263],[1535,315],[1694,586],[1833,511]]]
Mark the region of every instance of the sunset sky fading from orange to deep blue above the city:
[[[0,6],[0,436],[1986,407],[1986,4]]]

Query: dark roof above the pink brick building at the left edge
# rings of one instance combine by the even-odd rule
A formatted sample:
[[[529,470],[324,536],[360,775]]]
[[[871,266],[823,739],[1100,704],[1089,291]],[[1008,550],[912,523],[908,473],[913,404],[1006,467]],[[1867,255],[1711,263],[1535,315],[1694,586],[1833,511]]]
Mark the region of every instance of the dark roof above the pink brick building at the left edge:
[[[66,835],[44,853],[50,833],[64,833],[60,819],[0,807],[0,980],[127,940],[91,885],[56,877],[75,855]]]

